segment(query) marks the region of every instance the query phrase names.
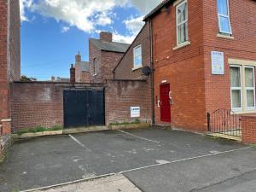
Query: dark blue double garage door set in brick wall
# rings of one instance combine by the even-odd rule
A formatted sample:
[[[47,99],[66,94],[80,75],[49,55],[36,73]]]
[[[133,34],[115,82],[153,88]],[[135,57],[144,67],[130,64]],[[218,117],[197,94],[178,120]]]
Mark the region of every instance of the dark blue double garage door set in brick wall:
[[[105,125],[104,90],[64,90],[64,126]]]

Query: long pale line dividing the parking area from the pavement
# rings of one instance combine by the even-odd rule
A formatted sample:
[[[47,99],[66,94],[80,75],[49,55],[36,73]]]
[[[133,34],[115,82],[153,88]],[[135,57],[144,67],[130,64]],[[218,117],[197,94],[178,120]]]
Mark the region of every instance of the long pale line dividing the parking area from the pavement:
[[[135,168],[135,169],[125,170],[125,171],[122,171],[122,172],[109,173],[109,174],[100,175],[100,176],[96,176],[96,177],[90,177],[90,178],[82,178],[82,179],[71,181],[71,182],[67,182],[67,183],[59,183],[59,184],[50,185],[50,186],[47,186],[47,187],[38,188],[38,189],[23,190],[23,191],[20,191],[20,192],[32,192],[32,191],[38,191],[38,190],[44,190],[44,189],[52,189],[52,188],[64,186],[64,185],[67,185],[67,184],[73,184],[73,183],[80,183],[80,182],[84,182],[84,181],[90,181],[90,180],[93,180],[93,179],[96,179],[96,178],[108,177],[108,176],[123,174],[125,172],[132,172],[132,171],[137,171],[137,170],[143,170],[143,169],[151,168],[151,167],[154,167],[154,166],[164,166],[164,165],[169,165],[169,164],[173,164],[173,163],[177,163],[177,162],[183,162],[183,161],[188,161],[188,160],[201,159],[201,158],[209,157],[209,156],[215,156],[215,155],[218,155],[218,154],[230,154],[232,152],[241,151],[241,150],[245,150],[245,149],[248,149],[248,148],[253,148],[253,147],[251,146],[251,147],[247,147],[247,148],[236,148],[236,149],[232,149],[232,150],[228,150],[228,151],[218,152],[216,154],[205,154],[205,155],[191,157],[191,158],[182,159],[182,160],[173,160],[172,162],[167,162],[166,161],[166,163],[162,162],[162,164],[155,164],[155,165],[152,165],[152,166],[142,166],[142,167],[138,167],[138,168]]]

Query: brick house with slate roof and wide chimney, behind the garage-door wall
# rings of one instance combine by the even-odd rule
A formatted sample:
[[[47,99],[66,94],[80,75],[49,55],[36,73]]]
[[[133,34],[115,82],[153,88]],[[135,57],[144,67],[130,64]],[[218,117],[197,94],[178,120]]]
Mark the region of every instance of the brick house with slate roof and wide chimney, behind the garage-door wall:
[[[89,66],[91,82],[105,83],[113,79],[113,68],[125,54],[129,44],[113,42],[112,33],[101,32],[100,39],[89,40]]]

